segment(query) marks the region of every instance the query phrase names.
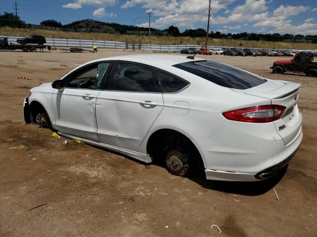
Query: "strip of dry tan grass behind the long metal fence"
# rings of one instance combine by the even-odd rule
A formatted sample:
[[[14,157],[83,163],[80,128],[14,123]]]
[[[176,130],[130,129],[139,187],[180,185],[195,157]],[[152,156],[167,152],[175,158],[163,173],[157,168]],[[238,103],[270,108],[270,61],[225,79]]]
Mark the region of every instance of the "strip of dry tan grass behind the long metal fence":
[[[46,38],[61,39],[82,39],[82,40],[113,40],[132,43],[149,43],[148,36],[137,35],[119,35],[106,33],[77,33],[77,32],[61,32],[47,31],[36,29],[18,29],[9,27],[0,27],[0,35],[2,36],[28,36],[43,35]],[[152,44],[201,44],[205,43],[206,38],[193,37],[171,37],[171,36],[152,36]],[[240,45],[242,43],[242,45]],[[272,41],[247,41],[247,40],[228,40],[228,39],[210,39],[210,45],[214,46],[232,46],[232,47],[254,47],[254,48],[270,48],[270,49],[317,49],[317,44],[312,43],[293,43],[293,42],[272,42]]]

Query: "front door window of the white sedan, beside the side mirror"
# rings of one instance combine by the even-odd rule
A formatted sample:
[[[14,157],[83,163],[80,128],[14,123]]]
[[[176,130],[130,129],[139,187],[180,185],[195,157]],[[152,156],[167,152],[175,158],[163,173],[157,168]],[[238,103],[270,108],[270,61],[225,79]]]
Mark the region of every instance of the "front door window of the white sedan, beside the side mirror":
[[[66,87],[100,89],[110,63],[98,63],[85,66],[70,77]]]

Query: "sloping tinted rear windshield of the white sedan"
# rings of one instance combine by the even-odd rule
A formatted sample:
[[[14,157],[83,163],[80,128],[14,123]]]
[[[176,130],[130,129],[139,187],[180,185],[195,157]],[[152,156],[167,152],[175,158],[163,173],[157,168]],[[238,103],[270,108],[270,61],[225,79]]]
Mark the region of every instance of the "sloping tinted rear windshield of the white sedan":
[[[207,60],[175,64],[173,67],[233,89],[248,89],[267,81],[229,65]]]

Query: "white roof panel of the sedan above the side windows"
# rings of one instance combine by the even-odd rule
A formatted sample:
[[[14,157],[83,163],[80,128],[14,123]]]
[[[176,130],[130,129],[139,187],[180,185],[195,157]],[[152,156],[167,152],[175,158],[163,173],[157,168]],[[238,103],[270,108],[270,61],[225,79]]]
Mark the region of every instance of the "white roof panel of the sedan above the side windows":
[[[98,61],[106,61],[106,60],[122,60],[122,61],[130,61],[135,63],[142,63],[153,67],[158,66],[172,66],[179,63],[185,62],[193,62],[193,61],[200,61],[206,60],[204,58],[195,57],[195,59],[188,59],[186,56],[181,55],[153,55],[153,54],[134,54],[134,55],[121,55],[109,58],[101,58],[97,59],[94,62]]]

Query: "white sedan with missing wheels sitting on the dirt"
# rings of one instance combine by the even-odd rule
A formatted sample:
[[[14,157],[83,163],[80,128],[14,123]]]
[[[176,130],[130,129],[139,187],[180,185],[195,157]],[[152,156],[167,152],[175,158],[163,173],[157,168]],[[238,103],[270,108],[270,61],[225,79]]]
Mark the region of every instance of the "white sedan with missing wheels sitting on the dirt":
[[[118,56],[32,88],[24,119],[175,175],[257,181],[302,141],[299,87],[193,56]]]

